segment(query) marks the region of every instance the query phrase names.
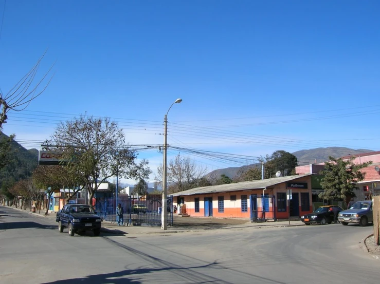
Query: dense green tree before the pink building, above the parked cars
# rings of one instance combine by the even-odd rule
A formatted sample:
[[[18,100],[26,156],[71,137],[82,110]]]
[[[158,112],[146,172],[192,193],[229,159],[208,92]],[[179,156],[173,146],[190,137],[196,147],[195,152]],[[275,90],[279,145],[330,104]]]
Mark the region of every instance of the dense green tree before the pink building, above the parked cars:
[[[323,192],[319,194],[319,198],[343,199],[347,204],[347,196],[355,196],[356,183],[365,178],[366,173],[362,173],[360,170],[371,165],[372,162],[355,164],[355,157],[348,160],[333,157],[329,157],[329,159],[330,162],[326,162],[324,169],[320,172],[323,176],[320,182]]]

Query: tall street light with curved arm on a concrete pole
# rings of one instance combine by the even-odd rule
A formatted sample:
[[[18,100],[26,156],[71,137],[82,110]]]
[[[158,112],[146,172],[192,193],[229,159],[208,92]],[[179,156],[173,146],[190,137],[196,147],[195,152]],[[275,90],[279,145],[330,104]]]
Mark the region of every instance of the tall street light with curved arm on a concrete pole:
[[[161,229],[167,230],[168,228],[168,192],[166,189],[166,154],[167,154],[167,138],[168,138],[168,112],[174,104],[179,104],[182,99],[176,99],[174,103],[169,107],[164,117],[164,163],[162,166],[162,209],[161,209]]]

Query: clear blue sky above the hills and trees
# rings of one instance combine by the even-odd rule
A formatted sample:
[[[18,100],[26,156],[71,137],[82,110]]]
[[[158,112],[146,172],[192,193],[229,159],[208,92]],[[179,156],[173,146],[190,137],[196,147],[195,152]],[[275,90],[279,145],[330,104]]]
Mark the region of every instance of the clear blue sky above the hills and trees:
[[[168,116],[173,146],[251,157],[378,150],[379,14],[378,1],[8,0],[0,88],[46,49],[40,76],[56,65],[4,132],[38,148],[60,120],[86,113],[114,118],[131,144],[160,144],[162,119],[182,98]],[[154,171],[162,160],[139,156]],[[192,158],[209,170],[239,165]]]

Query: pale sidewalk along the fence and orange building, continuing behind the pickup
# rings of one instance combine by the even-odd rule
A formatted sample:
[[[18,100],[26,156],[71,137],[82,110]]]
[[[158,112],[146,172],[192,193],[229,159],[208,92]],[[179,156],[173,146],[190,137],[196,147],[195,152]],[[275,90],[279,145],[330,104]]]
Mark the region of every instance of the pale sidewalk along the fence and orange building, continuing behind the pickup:
[[[23,211],[29,214],[33,214],[36,216],[40,216],[42,218],[48,218],[50,220],[56,220],[56,212],[48,213],[45,216],[45,210],[41,210],[40,213],[32,213],[29,210],[21,210],[20,208],[15,208],[11,206],[5,206],[15,210]],[[178,219],[178,218],[177,218]],[[200,217],[197,218],[201,220]],[[179,220],[179,219],[178,219]],[[208,223],[212,223],[212,219],[204,219],[207,220]],[[119,226],[115,222],[102,222],[102,232],[107,234],[115,234],[115,235],[144,235],[144,234],[172,234],[172,233],[186,233],[186,232],[215,232],[218,230],[243,230],[243,229],[263,229],[263,228],[280,228],[280,227],[294,227],[294,226],[303,226],[304,224],[301,221],[267,221],[267,222],[258,222],[251,223],[249,220],[247,222],[243,222],[240,224],[219,224],[218,227],[204,224],[188,224],[184,225],[183,223],[176,223],[174,220],[173,226],[168,226],[167,230],[162,230],[161,226]]]

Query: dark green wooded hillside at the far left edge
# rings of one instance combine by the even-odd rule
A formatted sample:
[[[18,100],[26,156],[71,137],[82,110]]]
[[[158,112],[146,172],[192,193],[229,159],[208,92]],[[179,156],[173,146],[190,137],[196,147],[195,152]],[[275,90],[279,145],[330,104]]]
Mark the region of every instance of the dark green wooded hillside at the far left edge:
[[[0,132],[0,139],[8,137]],[[3,183],[13,183],[20,179],[31,176],[34,168],[38,165],[38,150],[25,149],[16,141],[12,141],[11,145],[11,161],[0,171],[0,186]]]

